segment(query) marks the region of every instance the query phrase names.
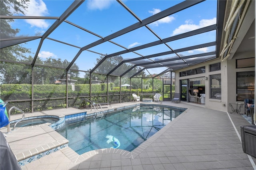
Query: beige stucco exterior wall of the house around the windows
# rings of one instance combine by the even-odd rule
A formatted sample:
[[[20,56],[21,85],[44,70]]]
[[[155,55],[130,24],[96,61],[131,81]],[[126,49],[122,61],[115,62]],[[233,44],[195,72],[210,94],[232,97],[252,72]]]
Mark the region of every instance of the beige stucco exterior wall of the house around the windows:
[[[246,53],[236,53],[232,59],[226,61],[220,61],[220,59],[214,59],[191,67],[186,67],[175,71],[175,84],[176,93],[180,91],[180,80],[191,79],[196,77],[208,77],[205,81],[205,107],[208,109],[214,109],[218,111],[231,112],[229,103],[236,103],[236,73],[243,71],[254,71],[254,67],[239,68],[236,69],[236,59],[254,57],[254,51],[248,51]],[[220,71],[210,72],[210,64],[221,63]],[[194,69],[205,66],[205,73],[180,77],[181,71]],[[210,99],[210,75],[221,74],[221,99]],[[239,103],[244,103],[240,102]],[[244,107],[241,109],[243,113]]]

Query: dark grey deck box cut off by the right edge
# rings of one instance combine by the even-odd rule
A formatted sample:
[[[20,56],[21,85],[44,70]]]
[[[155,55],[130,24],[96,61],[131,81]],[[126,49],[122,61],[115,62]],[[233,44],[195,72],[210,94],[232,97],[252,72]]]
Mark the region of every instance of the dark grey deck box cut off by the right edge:
[[[256,158],[256,126],[241,126],[240,128],[244,153]]]

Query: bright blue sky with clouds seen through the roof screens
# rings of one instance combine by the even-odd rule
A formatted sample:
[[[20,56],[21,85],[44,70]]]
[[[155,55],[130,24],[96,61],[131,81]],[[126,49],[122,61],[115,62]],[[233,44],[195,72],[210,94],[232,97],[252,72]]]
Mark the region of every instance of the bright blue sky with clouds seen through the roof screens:
[[[59,17],[72,4],[71,0],[31,0],[28,3],[26,16],[55,16]],[[144,20],[158,12],[166,10],[182,1],[178,0],[124,0],[122,1],[130,10],[132,10],[140,20]],[[158,20],[148,26],[162,39],[170,36],[175,36],[196,30],[205,26],[216,24],[216,0],[206,0],[200,4],[192,6],[186,10],[182,10],[171,16],[167,16]],[[49,38],[62,41],[68,44],[73,44],[77,47],[58,43],[52,40],[44,40],[38,57],[46,59],[48,57],[66,59],[72,61],[74,56],[78,53],[78,47],[84,47],[90,43],[100,40],[100,37],[106,37],[114,32],[122,30],[132,24],[138,22],[129,12],[127,12],[116,0],[86,0],[78,7],[67,19],[82,28],[95,33],[94,36],[83,30],[71,26],[63,22],[56,30],[54,30]],[[38,36],[43,35],[48,28],[56,20],[40,20],[40,19],[16,19],[12,23],[13,28],[20,29],[17,36]],[[112,41],[118,43],[126,48],[132,48],[145,43],[150,43],[159,40],[145,27],[139,28],[120,37],[114,38]],[[201,43],[212,42],[216,40],[216,32],[208,32],[202,35],[185,38],[184,40],[176,40],[169,42],[168,45],[172,49],[180,49],[187,46],[198,45]],[[40,40],[34,40],[24,44],[25,47],[31,49],[33,53],[36,52]],[[96,51],[101,54],[111,54],[124,50],[122,47],[105,42],[89,50]],[[160,53],[169,51],[166,45],[158,45],[157,47],[150,47],[148,49],[141,49],[136,52],[142,55],[150,55],[152,53]],[[195,49],[181,53],[181,55],[193,55],[197,53],[204,53],[215,51],[215,46],[205,47],[202,49]],[[80,70],[87,71],[92,69],[96,64],[96,58],[100,56],[98,53],[91,53],[83,51],[75,63]],[[33,56],[33,55],[32,55]],[[172,56],[156,57],[168,58]],[[134,53],[127,53],[122,55],[124,59],[140,57]],[[151,69],[152,73],[159,73],[166,68]]]

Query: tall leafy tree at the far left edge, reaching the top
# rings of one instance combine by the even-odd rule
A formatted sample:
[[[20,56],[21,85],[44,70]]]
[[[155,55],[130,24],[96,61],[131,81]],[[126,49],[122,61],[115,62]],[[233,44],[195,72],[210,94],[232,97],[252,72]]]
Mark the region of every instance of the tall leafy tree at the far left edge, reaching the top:
[[[28,8],[29,0],[1,0],[0,1],[0,13],[1,15],[8,16],[14,14],[24,14],[26,8]],[[1,19],[0,20],[0,37],[13,38],[20,31],[19,29],[13,29],[11,22],[13,19]],[[9,61],[23,61],[26,56],[25,53],[31,53],[30,49],[23,47],[22,45],[14,45],[12,47],[6,47],[0,51],[0,59]],[[2,83],[30,83],[31,82],[31,67],[29,65],[14,64],[9,62],[0,63],[0,73]]]

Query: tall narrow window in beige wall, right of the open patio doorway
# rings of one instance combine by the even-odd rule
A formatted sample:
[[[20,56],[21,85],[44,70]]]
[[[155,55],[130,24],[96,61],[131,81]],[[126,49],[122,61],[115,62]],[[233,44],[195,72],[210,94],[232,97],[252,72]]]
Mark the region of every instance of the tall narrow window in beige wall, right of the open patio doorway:
[[[221,75],[210,75],[210,98],[221,99]]]

